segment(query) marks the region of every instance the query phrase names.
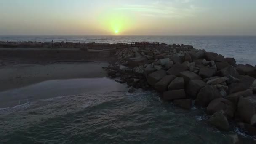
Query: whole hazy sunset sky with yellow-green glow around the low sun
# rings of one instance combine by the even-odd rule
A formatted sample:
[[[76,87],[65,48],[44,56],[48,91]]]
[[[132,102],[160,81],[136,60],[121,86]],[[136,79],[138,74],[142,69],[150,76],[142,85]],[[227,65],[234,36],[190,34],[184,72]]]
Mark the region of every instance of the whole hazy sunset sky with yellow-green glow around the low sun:
[[[0,35],[256,35],[256,0],[0,0]]]

